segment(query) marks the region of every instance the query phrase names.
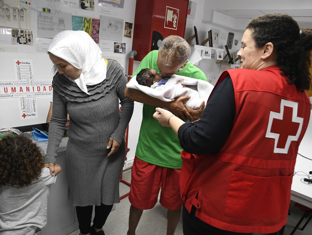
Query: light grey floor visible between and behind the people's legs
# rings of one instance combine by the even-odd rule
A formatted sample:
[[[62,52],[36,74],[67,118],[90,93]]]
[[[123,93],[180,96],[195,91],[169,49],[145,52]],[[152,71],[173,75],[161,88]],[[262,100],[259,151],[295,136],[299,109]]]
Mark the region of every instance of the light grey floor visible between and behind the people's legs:
[[[131,171],[123,173],[123,179],[130,182]],[[123,183],[120,183],[120,195],[129,192],[129,187]],[[116,205],[116,209],[113,210],[103,229],[106,235],[126,235],[128,230],[130,202],[128,197],[121,200]],[[285,227],[284,235],[289,235],[296,223],[299,221],[303,212],[297,207],[290,207],[290,215],[288,216],[288,222]],[[304,224],[306,219],[302,222]],[[301,227],[300,226],[300,227]],[[140,222],[136,229],[136,235],[166,235],[167,229],[167,210],[158,202],[153,209],[145,210],[142,214]],[[79,230],[69,233],[69,235],[79,235]],[[178,223],[176,235],[182,235],[182,216]],[[255,233],[257,235],[260,233]],[[196,234],[194,234],[196,235]],[[304,228],[303,231],[298,229],[294,235],[312,235],[312,221]]]

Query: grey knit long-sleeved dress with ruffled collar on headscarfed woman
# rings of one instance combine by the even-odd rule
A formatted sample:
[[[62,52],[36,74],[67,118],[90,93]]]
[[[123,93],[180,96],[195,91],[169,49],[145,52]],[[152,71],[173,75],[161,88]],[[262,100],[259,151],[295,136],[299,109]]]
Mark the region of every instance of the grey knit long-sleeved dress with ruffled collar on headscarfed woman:
[[[91,95],[59,73],[53,77],[53,109],[45,163],[56,161],[68,112],[68,199],[74,206],[120,202],[124,135],[133,112],[133,101],[124,97],[126,83],[123,69],[115,60],[108,60],[106,79],[102,83],[87,86]],[[110,137],[121,145],[108,157],[110,149],[106,146]]]

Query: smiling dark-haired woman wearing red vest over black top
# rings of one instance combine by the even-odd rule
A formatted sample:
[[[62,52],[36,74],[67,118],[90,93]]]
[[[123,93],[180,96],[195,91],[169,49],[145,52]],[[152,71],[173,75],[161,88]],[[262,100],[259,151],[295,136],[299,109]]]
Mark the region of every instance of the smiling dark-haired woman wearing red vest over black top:
[[[153,117],[183,147],[184,234],[283,232],[300,141],[308,125],[312,32],[288,15],[252,20],[198,123]]]

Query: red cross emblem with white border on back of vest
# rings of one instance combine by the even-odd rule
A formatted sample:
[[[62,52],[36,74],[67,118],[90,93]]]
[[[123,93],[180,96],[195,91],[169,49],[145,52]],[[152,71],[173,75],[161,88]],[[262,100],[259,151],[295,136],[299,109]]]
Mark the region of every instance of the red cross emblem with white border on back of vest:
[[[297,141],[303,118],[298,117],[298,103],[282,100],[280,113],[270,112],[265,137],[275,139],[274,153],[287,153],[291,141]]]

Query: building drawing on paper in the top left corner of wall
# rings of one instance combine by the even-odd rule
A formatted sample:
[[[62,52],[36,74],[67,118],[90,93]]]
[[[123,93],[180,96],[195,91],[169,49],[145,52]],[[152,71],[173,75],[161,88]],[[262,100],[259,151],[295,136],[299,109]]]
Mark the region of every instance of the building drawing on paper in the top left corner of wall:
[[[0,13],[3,14],[0,26],[15,29],[31,29],[31,10],[20,6],[20,1],[0,1]]]

